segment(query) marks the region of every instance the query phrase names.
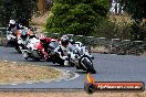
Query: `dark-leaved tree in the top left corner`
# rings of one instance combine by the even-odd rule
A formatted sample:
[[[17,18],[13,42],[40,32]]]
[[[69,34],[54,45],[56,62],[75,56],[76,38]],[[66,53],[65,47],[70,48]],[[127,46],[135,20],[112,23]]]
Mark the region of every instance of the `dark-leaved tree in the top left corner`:
[[[10,19],[15,19],[23,25],[36,11],[36,0],[0,0],[0,22],[7,24]]]

